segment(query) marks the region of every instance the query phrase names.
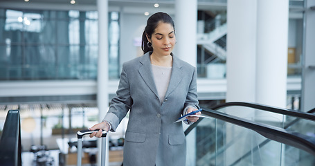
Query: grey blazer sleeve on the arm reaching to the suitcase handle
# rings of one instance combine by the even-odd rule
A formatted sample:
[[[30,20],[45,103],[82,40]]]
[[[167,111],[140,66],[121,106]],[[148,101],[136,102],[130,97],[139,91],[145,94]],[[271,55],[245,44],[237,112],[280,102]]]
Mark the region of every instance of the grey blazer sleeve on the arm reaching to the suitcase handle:
[[[111,131],[115,132],[118,124],[125,118],[127,112],[132,106],[132,98],[130,95],[130,87],[127,76],[127,67],[123,64],[123,70],[120,74],[120,81],[116,97],[111,100],[109,111],[107,112],[103,122],[111,124]]]

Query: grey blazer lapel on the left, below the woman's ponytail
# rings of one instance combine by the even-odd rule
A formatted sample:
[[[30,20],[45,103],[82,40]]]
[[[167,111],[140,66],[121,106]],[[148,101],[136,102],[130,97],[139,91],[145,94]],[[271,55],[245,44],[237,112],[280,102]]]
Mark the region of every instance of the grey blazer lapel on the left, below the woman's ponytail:
[[[155,86],[154,78],[153,78],[153,74],[152,74],[150,53],[145,53],[145,55],[143,55],[140,58],[139,62],[142,64],[142,66],[140,68],[138,68],[138,71],[139,71],[141,77],[145,81],[145,84],[147,84],[147,86],[149,86],[151,91],[156,95],[156,97],[159,98],[159,94],[156,90],[156,86]]]

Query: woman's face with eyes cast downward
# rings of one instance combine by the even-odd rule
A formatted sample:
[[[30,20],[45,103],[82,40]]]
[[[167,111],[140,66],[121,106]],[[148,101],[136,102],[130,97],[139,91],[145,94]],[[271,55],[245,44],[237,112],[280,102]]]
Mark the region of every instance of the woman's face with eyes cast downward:
[[[151,39],[153,53],[156,55],[170,55],[175,46],[175,32],[171,24],[159,23],[152,34]]]

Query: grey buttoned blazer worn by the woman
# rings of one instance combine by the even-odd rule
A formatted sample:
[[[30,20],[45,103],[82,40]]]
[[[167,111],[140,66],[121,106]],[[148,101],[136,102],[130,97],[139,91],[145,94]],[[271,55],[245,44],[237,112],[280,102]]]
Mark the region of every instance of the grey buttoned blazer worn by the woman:
[[[115,131],[129,111],[124,166],[183,166],[186,137],[178,120],[188,106],[197,107],[196,68],[173,55],[172,74],[162,104],[152,75],[150,53],[123,64],[116,97],[104,120]]]

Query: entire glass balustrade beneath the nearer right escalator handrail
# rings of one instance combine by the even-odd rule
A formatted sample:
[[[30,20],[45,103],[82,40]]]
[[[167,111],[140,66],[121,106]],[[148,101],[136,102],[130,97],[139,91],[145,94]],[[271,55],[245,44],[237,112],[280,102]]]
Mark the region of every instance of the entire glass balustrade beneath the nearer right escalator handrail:
[[[203,118],[186,138],[186,165],[312,165],[315,160],[306,151],[214,118]]]

